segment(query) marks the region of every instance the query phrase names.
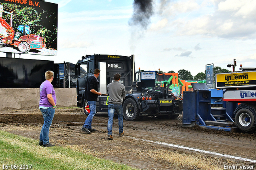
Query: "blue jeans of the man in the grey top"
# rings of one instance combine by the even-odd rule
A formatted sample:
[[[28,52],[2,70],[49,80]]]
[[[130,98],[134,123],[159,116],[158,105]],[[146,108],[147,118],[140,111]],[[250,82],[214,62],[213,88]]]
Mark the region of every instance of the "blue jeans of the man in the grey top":
[[[109,104],[108,105],[108,134],[112,134],[112,125],[114,112],[118,115],[119,133],[123,132],[123,107],[122,105]]]

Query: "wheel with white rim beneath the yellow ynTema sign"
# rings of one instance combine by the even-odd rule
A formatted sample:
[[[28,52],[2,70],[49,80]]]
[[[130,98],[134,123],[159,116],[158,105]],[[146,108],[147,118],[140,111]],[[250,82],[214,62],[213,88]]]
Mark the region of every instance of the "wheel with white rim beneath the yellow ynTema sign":
[[[243,132],[254,132],[256,130],[255,116],[250,109],[242,108],[236,111],[236,126]]]

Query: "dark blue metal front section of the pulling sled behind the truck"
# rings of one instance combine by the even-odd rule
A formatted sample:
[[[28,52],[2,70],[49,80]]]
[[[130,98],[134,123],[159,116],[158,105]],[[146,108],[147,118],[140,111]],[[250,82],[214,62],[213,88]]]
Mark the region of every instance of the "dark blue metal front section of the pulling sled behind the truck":
[[[222,102],[223,91],[209,90],[205,83],[192,83],[194,91],[183,92],[183,127],[201,127],[234,132],[236,104]],[[217,106],[217,107],[212,107]]]

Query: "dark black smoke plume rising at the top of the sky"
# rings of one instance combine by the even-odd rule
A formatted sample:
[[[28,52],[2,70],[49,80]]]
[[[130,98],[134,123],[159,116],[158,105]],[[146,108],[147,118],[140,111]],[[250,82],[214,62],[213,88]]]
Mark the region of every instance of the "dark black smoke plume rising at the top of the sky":
[[[130,26],[140,26],[145,30],[150,24],[150,17],[154,14],[153,0],[134,0],[132,18],[128,22]]]

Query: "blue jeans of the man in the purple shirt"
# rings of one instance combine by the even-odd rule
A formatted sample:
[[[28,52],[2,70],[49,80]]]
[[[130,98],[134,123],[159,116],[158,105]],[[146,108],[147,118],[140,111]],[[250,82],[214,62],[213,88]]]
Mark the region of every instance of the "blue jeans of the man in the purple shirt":
[[[44,117],[44,125],[40,132],[39,140],[43,142],[43,144],[49,143],[49,129],[52,125],[52,119],[55,114],[55,109],[53,107],[49,107],[48,109],[40,109],[42,115]]]

